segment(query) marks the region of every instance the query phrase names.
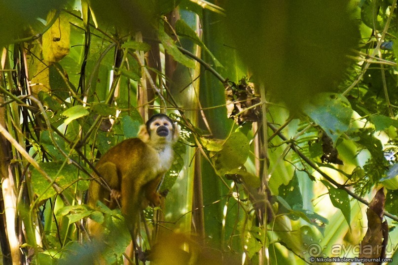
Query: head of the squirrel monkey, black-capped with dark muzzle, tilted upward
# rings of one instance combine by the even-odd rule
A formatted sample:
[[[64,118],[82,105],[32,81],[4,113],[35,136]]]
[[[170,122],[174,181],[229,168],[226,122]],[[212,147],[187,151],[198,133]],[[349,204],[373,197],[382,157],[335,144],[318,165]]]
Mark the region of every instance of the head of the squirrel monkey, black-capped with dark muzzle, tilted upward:
[[[178,127],[165,114],[153,115],[142,125],[138,137],[145,143],[173,144],[180,136]]]

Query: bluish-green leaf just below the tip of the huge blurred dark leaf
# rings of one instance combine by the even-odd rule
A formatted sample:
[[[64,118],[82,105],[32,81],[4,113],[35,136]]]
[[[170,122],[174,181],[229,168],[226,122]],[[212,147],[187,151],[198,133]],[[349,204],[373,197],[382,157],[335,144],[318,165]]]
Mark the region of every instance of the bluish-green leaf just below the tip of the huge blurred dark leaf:
[[[340,135],[348,130],[353,110],[345,97],[334,93],[320,93],[304,107],[304,113],[321,126],[335,146]]]

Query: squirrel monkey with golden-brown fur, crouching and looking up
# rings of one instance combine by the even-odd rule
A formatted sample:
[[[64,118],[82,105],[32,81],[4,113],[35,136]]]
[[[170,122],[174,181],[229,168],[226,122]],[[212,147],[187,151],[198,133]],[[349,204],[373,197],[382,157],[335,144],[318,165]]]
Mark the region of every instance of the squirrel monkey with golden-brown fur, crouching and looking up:
[[[148,204],[160,204],[157,188],[173,163],[173,144],[178,138],[179,129],[167,115],[153,115],[140,127],[138,138],[120,142],[98,161],[96,168],[111,192],[91,181],[88,204],[94,207],[100,200],[114,209],[119,201],[126,224],[134,236],[140,211]],[[100,224],[88,220],[87,226],[90,235],[101,235]]]

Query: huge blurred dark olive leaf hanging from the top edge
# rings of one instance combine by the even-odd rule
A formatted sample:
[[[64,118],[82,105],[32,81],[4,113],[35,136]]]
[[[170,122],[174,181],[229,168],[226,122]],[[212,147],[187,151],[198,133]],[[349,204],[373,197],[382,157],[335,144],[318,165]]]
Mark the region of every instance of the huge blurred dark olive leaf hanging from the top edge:
[[[290,112],[331,92],[352,66],[361,38],[347,0],[240,0],[225,3],[234,49]]]

